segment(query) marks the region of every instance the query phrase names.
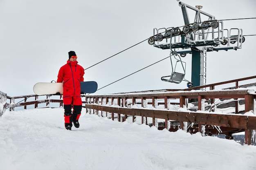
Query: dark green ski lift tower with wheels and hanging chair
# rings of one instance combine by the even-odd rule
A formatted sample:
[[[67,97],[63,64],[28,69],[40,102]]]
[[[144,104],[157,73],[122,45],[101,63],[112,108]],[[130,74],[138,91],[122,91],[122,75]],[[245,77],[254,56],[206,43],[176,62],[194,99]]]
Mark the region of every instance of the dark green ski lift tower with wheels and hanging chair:
[[[202,86],[206,84],[207,52],[241,49],[242,43],[245,41],[243,30],[237,28],[224,29],[223,22],[202,11],[200,5],[191,7],[179,2],[179,6],[182,9],[184,26],[155,28],[154,35],[148,39],[148,44],[160,49],[171,50],[172,72],[171,75],[162,77],[162,81],[178,84],[185,80],[186,71],[181,57],[185,57],[189,53],[192,54],[191,82],[193,86]],[[195,19],[192,23],[189,20],[188,9],[195,11]],[[207,17],[208,20],[202,21],[202,16]],[[174,69],[172,60],[176,60]],[[177,64],[182,66],[182,73],[176,71]]]

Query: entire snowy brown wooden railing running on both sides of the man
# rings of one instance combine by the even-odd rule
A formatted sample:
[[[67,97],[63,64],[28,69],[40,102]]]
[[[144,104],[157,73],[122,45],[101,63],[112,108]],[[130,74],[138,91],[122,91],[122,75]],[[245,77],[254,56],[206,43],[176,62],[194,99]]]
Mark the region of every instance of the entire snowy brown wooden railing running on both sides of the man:
[[[252,89],[242,87],[255,86],[256,83],[239,84],[240,86],[238,86],[238,83],[244,80],[255,78],[256,76],[245,77],[182,90],[163,89],[110,95],[85,95],[82,97],[82,102],[87,113],[108,116],[112,120],[125,121],[130,119],[130,121],[137,121],[139,124],[157,126],[159,130],[164,128],[169,131],[183,129],[191,133],[201,132],[202,135],[225,134],[228,139],[232,139],[232,134],[236,132],[245,132],[245,143],[255,145],[255,92]],[[220,91],[213,90],[218,85],[230,83],[235,83],[234,87]],[[195,91],[195,89],[203,88],[210,89]],[[239,89],[231,90],[234,88]],[[5,94],[5,97],[7,102],[5,102],[4,107],[10,110],[14,110],[16,107],[27,109],[28,106],[33,105],[33,108],[52,107],[51,104],[54,103],[57,104],[55,107],[63,106],[62,96],[56,95],[10,97]],[[217,113],[215,109],[218,107],[214,105],[216,99],[233,99],[235,102],[234,107],[232,107],[233,111]],[[241,99],[244,101],[243,110],[239,104]],[[193,104],[198,105],[190,108],[191,103],[189,101],[191,100],[195,101]],[[244,115],[244,113],[246,114]]]

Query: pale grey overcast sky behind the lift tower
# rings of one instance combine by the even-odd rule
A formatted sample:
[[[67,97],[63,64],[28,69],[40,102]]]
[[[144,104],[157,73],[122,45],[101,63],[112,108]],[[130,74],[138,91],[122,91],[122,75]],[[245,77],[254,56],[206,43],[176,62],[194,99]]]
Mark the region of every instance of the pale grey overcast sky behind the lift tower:
[[[254,0],[182,0],[217,20],[255,18]],[[153,35],[154,28],[184,25],[177,0],[0,0],[0,91],[9,96],[34,94],[37,82],[57,79],[68,52],[88,68]],[[189,16],[193,22],[194,15]],[[224,28],[241,28],[255,35],[256,20],[223,21]],[[243,48],[207,53],[207,84],[255,75],[255,39],[245,36]],[[99,88],[168,57],[147,41],[85,70],[85,81]],[[191,80],[191,55],[185,79]],[[186,82],[162,82],[171,74],[170,60],[103,88],[95,94],[186,88]]]

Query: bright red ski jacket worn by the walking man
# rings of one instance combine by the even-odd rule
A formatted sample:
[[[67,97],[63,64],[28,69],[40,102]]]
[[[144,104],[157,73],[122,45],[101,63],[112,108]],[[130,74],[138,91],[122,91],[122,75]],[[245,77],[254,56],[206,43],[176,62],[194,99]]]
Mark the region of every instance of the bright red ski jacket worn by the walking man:
[[[80,82],[83,82],[84,69],[77,63],[67,60],[58,72],[57,82],[63,82],[63,97],[81,95]]]

